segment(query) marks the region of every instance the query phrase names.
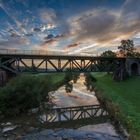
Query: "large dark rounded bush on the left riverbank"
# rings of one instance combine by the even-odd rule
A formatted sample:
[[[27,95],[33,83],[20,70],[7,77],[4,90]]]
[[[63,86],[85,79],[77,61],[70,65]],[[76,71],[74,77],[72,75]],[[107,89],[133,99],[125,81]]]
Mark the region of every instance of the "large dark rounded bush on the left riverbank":
[[[0,111],[4,115],[17,115],[25,110],[38,106],[42,100],[40,81],[34,76],[13,78],[0,90]]]

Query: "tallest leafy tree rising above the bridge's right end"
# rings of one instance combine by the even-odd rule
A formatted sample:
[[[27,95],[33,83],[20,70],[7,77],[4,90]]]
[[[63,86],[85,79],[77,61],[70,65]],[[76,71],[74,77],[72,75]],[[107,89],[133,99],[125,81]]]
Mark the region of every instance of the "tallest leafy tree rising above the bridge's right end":
[[[121,45],[118,46],[118,49],[120,50],[120,54],[123,57],[134,56],[135,47],[133,40],[122,40]]]

